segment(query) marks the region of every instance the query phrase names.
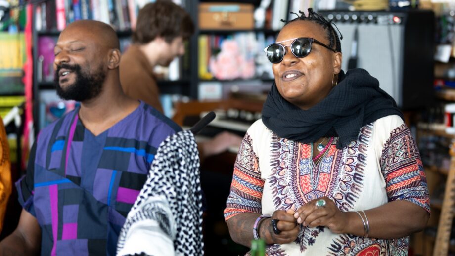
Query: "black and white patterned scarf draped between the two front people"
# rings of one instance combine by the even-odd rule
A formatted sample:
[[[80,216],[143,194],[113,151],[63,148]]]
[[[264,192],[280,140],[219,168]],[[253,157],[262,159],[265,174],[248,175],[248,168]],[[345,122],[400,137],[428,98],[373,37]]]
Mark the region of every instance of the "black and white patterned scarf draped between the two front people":
[[[117,255],[203,255],[202,194],[194,135],[164,140],[120,232]]]

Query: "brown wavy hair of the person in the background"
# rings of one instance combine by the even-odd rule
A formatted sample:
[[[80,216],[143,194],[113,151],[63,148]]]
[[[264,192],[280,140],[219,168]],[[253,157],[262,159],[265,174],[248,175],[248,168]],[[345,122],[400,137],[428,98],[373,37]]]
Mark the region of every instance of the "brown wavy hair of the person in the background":
[[[194,33],[189,14],[170,0],[157,0],[139,10],[133,43],[149,43],[162,37],[171,43],[177,37],[188,39]]]

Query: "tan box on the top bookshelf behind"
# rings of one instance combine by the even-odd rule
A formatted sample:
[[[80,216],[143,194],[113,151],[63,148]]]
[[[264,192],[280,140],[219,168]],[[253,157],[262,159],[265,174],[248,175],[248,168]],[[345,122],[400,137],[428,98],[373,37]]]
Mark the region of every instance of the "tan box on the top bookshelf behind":
[[[200,29],[253,29],[253,4],[211,3],[199,4]]]

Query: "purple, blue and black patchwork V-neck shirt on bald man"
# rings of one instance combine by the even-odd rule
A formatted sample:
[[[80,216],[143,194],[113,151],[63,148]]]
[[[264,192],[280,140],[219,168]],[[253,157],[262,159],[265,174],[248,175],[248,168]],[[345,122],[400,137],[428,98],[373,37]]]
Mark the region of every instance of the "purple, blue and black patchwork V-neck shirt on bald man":
[[[94,136],[78,110],[44,128],[16,187],[41,227],[41,255],[115,255],[160,143],[181,128],[149,105]]]

